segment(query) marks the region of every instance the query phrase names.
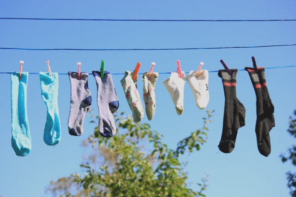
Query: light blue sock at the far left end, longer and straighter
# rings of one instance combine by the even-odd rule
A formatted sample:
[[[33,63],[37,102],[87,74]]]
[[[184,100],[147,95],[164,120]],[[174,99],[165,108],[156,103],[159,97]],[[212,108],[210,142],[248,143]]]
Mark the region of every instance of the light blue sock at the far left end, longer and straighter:
[[[11,72],[11,146],[17,156],[31,150],[31,134],[27,116],[28,72]]]

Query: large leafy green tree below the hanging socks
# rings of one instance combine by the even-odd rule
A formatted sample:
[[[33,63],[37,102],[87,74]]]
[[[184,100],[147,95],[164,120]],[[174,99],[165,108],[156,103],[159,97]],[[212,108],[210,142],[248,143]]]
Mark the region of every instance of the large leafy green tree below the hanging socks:
[[[59,197],[205,197],[207,175],[197,184],[198,191],[190,189],[184,169],[187,163],[181,163],[180,156],[199,150],[206,142],[212,112],[207,114],[203,128],[181,140],[176,150],[168,148],[163,136],[148,124],[135,124],[123,113],[115,115],[115,136],[101,137],[96,127],[83,142],[92,150],[80,165],[85,173],[51,181],[46,193]]]

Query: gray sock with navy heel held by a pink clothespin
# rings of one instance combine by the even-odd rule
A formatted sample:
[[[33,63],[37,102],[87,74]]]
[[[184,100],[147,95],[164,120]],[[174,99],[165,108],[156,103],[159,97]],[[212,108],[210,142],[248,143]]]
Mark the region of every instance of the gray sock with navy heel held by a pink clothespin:
[[[71,103],[68,119],[68,129],[71,135],[79,136],[83,133],[83,122],[91,105],[91,94],[88,89],[88,73],[81,72],[78,79],[77,72],[68,72],[71,83]]]

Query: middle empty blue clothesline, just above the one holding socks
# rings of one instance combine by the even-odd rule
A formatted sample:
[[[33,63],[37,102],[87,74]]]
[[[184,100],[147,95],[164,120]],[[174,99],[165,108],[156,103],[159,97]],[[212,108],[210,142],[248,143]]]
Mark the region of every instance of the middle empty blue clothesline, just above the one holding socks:
[[[27,50],[27,51],[168,51],[168,50],[204,50],[204,49],[240,49],[263,48],[279,46],[296,46],[296,44],[262,45],[262,46],[227,46],[227,47],[197,47],[197,48],[134,48],[134,49],[79,49],[79,48],[15,48],[0,47],[2,50]]]

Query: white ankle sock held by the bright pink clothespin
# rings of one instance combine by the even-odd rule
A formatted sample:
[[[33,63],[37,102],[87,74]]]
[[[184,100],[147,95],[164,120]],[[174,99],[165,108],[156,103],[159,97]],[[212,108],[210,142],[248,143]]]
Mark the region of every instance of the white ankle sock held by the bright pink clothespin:
[[[183,113],[184,105],[185,72],[181,72],[182,78],[180,78],[179,76],[179,73],[172,72],[171,76],[164,80],[162,83],[171,95],[171,98],[175,104],[177,114],[181,115]]]

